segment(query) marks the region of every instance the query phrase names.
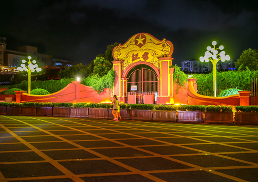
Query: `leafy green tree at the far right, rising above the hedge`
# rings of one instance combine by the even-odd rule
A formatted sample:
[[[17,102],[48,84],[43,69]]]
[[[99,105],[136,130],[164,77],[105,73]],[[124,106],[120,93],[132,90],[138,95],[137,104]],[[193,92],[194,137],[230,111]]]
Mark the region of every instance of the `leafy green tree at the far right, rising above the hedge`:
[[[236,69],[239,69],[243,65],[241,67],[242,70],[246,70],[246,66],[250,70],[258,70],[258,50],[244,50],[235,65]]]

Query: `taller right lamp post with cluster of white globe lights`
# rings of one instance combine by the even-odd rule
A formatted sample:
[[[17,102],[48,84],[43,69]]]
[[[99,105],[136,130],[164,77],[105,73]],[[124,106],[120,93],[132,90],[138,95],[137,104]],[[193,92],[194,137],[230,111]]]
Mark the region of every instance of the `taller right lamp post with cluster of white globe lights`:
[[[211,62],[213,65],[213,92],[214,92],[214,97],[216,97],[216,93],[217,93],[217,62],[218,61],[229,61],[230,60],[230,56],[229,55],[225,55],[225,51],[222,51],[218,54],[217,49],[219,50],[223,50],[224,46],[220,45],[217,49],[215,49],[215,45],[217,44],[216,41],[212,42],[213,48],[211,48],[210,46],[207,47],[207,51],[205,52],[204,57],[201,56],[200,57],[200,61],[201,62]]]

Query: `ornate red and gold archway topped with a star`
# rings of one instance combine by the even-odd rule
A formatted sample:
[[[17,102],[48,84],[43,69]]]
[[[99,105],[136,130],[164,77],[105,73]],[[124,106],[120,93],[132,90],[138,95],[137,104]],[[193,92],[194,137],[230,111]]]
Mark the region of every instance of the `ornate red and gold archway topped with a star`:
[[[135,34],[126,43],[119,44],[113,50],[115,70],[113,95],[117,95],[120,102],[136,103],[136,99],[133,101],[127,98],[127,82],[129,82],[127,74],[133,67],[145,64],[157,75],[157,104],[174,104],[174,69],[169,68],[172,65],[172,53],[173,44],[170,41],[165,38],[159,40],[148,33]]]

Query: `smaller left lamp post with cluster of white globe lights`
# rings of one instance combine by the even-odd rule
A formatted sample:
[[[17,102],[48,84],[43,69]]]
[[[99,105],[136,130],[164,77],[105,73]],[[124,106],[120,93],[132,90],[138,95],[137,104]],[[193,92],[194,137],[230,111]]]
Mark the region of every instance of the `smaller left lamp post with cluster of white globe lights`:
[[[41,68],[38,67],[35,60],[30,61],[31,57],[28,56],[29,61],[22,60],[21,67],[18,67],[17,70],[19,71],[26,71],[28,73],[28,94],[30,94],[30,83],[31,83],[31,72],[34,71],[41,71]],[[28,65],[25,65],[24,63],[28,63]]]

